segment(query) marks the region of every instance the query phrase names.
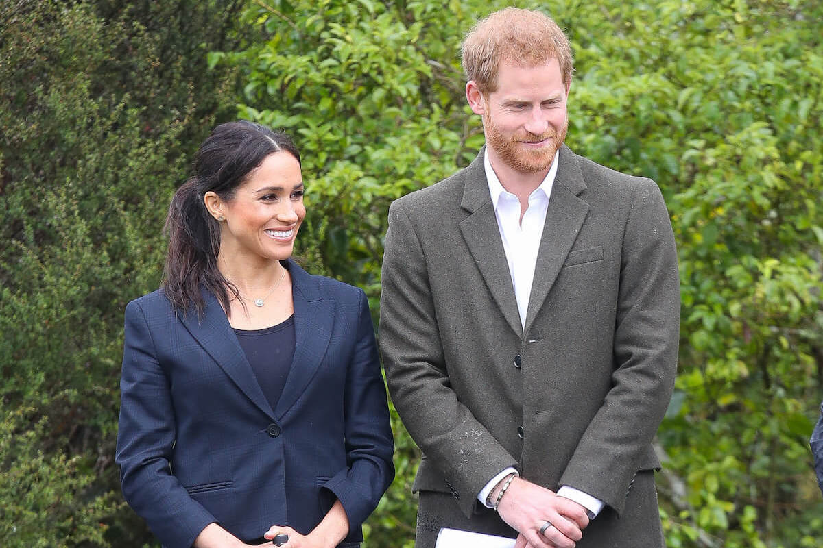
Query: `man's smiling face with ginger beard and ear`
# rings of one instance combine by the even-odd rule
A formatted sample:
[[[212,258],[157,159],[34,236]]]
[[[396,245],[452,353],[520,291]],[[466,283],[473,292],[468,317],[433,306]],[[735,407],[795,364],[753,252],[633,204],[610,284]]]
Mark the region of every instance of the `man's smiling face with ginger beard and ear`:
[[[537,67],[501,62],[497,82],[497,90],[482,96],[490,154],[518,173],[547,171],[569,126],[569,90],[560,64],[557,59]]]

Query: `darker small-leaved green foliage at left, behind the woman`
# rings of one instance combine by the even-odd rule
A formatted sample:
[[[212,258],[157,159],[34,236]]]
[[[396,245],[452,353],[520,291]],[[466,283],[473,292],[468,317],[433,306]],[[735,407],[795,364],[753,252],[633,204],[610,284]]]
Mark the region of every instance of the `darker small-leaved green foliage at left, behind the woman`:
[[[217,7],[217,4],[220,7]],[[239,2],[0,2],[0,545],[142,546],[114,467],[123,308],[235,79]]]

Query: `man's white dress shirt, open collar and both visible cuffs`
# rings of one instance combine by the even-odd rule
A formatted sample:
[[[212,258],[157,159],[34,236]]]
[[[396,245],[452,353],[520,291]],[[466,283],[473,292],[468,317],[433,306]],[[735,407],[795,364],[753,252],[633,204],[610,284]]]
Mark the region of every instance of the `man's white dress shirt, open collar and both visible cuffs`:
[[[486,153],[483,155],[483,165],[486,168],[486,181],[489,183],[491,203],[495,206],[497,228],[500,228],[500,239],[503,240],[503,249],[506,254],[506,261],[509,264],[509,274],[511,274],[512,284],[514,285],[514,297],[517,299],[520,323],[523,328],[526,327],[528,299],[532,294],[534,267],[537,265],[537,251],[540,250],[543,224],[546,223],[546,210],[549,206],[551,188],[554,186],[557,174],[557,159],[559,156],[560,152],[556,152],[549,173],[546,173],[546,178],[528,196],[528,208],[523,214],[523,221],[521,222],[520,200],[511,192],[506,191],[500,183],[495,170],[491,168],[489,150],[486,149]],[[501,479],[512,472],[517,473],[514,468],[509,467],[491,478],[491,481],[477,495],[477,500],[491,508],[486,504],[489,493]],[[589,518],[595,518],[604,504],[602,500],[571,486],[560,486],[557,495],[574,500],[574,502],[582,505],[588,510]]]

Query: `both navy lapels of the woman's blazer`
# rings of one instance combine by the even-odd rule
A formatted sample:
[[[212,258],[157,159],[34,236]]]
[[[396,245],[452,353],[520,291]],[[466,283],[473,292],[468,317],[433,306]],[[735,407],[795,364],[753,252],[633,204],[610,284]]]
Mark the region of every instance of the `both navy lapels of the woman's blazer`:
[[[235,385],[272,419],[280,419],[285,415],[309,385],[326,352],[334,324],[334,302],[323,298],[319,279],[309,275],[291,259],[281,264],[291,274],[291,295],[295,309],[295,356],[276,409],[272,410],[263,389],[258,385],[229,319],[212,292],[203,290],[206,309],[202,320],[198,320],[196,314],[179,316],[188,332],[226,371]]]

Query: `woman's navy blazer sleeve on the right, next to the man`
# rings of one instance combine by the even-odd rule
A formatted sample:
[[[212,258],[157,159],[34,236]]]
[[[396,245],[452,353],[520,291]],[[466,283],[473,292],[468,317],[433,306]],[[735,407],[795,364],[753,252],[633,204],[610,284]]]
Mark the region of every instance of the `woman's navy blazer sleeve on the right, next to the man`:
[[[324,485],[346,510],[350,532],[365,522],[394,479],[394,440],[374,325],[365,293],[358,292],[356,349],[346,373],[344,394],[348,467]]]

